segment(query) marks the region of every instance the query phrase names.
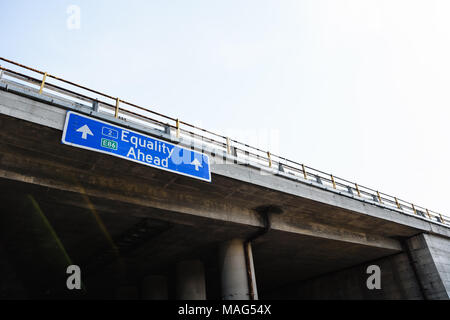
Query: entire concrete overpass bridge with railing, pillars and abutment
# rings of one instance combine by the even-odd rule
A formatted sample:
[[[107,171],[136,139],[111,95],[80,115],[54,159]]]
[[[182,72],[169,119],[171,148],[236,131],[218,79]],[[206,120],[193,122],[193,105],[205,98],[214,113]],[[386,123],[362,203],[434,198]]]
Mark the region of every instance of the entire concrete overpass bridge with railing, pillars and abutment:
[[[1,60],[1,298],[449,298],[448,216]],[[68,111],[208,154],[211,182],[64,145]]]

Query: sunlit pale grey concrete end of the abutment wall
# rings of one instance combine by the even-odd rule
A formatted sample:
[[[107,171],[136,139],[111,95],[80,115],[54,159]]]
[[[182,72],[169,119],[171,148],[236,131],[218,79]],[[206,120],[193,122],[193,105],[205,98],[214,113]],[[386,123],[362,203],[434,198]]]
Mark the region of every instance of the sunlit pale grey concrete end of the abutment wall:
[[[427,299],[450,297],[450,240],[420,234],[407,241]]]

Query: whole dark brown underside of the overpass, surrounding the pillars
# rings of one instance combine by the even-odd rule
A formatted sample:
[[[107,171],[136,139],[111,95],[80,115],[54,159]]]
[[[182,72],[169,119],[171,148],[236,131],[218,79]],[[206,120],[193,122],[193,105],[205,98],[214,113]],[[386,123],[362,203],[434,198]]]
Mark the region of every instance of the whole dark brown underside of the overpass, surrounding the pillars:
[[[9,116],[0,127],[2,298],[114,298],[151,274],[166,276],[175,298],[177,263],[197,259],[207,298],[219,299],[218,248],[260,231],[255,209],[263,205],[283,212],[252,244],[260,298],[286,298],[294,284],[402,255],[400,240],[420,233],[218,174],[206,183],[76,149],[60,143],[59,130]],[[81,267],[87,291],[67,290],[70,264]]]

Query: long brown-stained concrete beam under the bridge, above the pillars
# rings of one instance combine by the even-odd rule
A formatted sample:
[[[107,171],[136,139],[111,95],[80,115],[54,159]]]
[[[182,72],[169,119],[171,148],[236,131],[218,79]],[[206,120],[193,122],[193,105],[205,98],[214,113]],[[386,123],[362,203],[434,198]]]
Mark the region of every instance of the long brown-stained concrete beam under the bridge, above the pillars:
[[[0,146],[0,152],[2,153],[4,161],[9,159],[11,157],[11,161],[14,161],[15,163],[18,163],[19,157],[16,155],[9,155],[6,152],[3,152],[1,146]],[[31,161],[27,159],[27,163]],[[52,170],[55,172],[56,169],[49,168],[50,164],[46,163],[45,165],[42,165],[42,168],[47,168],[47,170]],[[36,164],[34,167],[38,167]],[[42,169],[45,170],[45,169]],[[61,168],[59,168],[61,170]],[[83,173],[77,172],[73,175],[69,173],[69,169],[67,168],[67,174],[66,177],[72,177],[72,176],[80,176]],[[127,185],[124,185],[122,182],[120,184],[121,193],[115,190],[113,191],[111,186],[114,184],[114,182],[110,182],[108,180],[113,180],[113,178],[109,177],[96,177],[93,174],[90,176],[90,180],[93,181],[95,186],[88,186],[86,184],[83,185],[83,188],[80,188],[78,185],[74,185],[71,183],[66,183],[57,179],[51,179],[51,178],[45,178],[40,177],[38,175],[33,175],[31,173],[22,174],[18,172],[14,172],[10,169],[3,170],[3,168],[0,167],[0,178],[8,179],[8,180],[14,180],[19,182],[26,182],[34,185],[40,185],[48,188],[53,188],[57,190],[63,190],[63,191],[69,191],[69,192],[75,192],[75,193],[82,193],[92,198],[103,198],[103,199],[109,199],[111,201],[120,201],[123,203],[136,205],[136,206],[145,206],[145,207],[153,207],[158,208],[161,210],[167,210],[167,211],[173,211],[173,212],[179,212],[184,215],[184,220],[186,223],[189,223],[192,221],[192,219],[196,217],[202,217],[202,218],[209,218],[214,219],[217,221],[227,221],[227,222],[233,222],[243,225],[249,225],[249,226],[258,226],[263,227],[260,223],[260,221],[257,219],[256,215],[253,212],[250,212],[250,210],[242,209],[242,208],[234,208],[231,207],[229,204],[222,204],[219,201],[214,202],[215,210],[211,210],[210,207],[207,207],[206,209],[202,207],[202,200],[195,199],[195,201],[190,201],[186,199],[185,197],[182,197],[182,199],[178,199],[176,195],[170,194],[170,199],[168,198],[167,192],[161,192],[158,190],[153,191],[152,190],[152,197],[137,197],[137,196],[128,196],[124,194],[124,187],[127,187]],[[139,186],[133,186],[136,189]],[[147,188],[147,194],[149,192],[148,190],[148,184],[145,184],[145,187]],[[102,191],[106,190],[108,191]],[[127,190],[128,193],[128,190]],[[161,199],[161,200],[157,200]],[[188,202],[189,201],[189,202]],[[210,201],[209,201],[210,203]],[[180,205],[183,204],[183,205]],[[72,204],[72,205],[81,205],[80,203]],[[230,212],[231,208],[231,212]],[[170,221],[170,218],[167,217],[167,215],[161,215],[161,219],[166,219]],[[182,223],[182,221],[176,221],[177,223]],[[273,227],[272,229],[277,229],[281,231],[288,231],[292,233],[298,233],[298,234],[304,234],[304,235],[310,235],[314,237],[321,237],[321,238],[327,238],[327,239],[333,239],[338,241],[346,241],[351,242],[355,244],[363,244],[366,246],[371,247],[380,247],[380,248],[388,248],[396,251],[401,251],[401,246],[397,240],[390,239],[383,236],[377,236],[373,234],[366,234],[361,232],[354,232],[352,230],[343,229],[343,228],[336,228],[330,225],[320,225],[317,223],[310,224],[310,223],[304,223],[303,225],[294,225],[293,223],[289,223],[289,221],[282,221],[282,217],[273,217],[273,225],[277,226],[276,228]]]

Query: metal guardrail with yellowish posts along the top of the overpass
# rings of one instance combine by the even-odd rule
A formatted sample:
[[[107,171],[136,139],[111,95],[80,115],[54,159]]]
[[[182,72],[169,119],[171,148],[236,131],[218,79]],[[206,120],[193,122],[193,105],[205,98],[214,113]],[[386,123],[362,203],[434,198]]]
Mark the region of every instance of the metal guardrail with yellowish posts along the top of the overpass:
[[[115,118],[134,122],[136,124],[158,129],[161,131],[173,130],[177,138],[184,138],[192,142],[202,144],[202,151],[206,145],[214,153],[223,153],[224,158],[233,158],[236,163],[256,166],[267,172],[296,181],[307,181],[317,187],[338,192],[342,195],[351,196],[355,199],[367,201],[376,205],[384,206],[392,210],[414,215],[434,223],[450,225],[450,217],[437,213],[427,208],[417,206],[394,196],[387,195],[377,190],[364,187],[354,182],[336,177],[332,174],[308,167],[304,164],[272,154],[269,151],[252,147],[248,144],[233,140],[214,132],[199,128],[195,125],[152,111],[74,82],[56,77],[37,69],[19,64],[17,62],[0,57],[0,60],[19,67],[21,72],[0,66],[0,80],[11,78],[23,83],[37,92],[39,95],[61,97],[69,99],[76,104],[92,108],[95,111],[104,112]],[[42,75],[41,79],[29,74]],[[59,82],[58,85],[49,83],[48,78]],[[81,92],[82,91],[82,92]],[[94,96],[92,96],[94,95]],[[107,101],[105,101],[105,99]]]

